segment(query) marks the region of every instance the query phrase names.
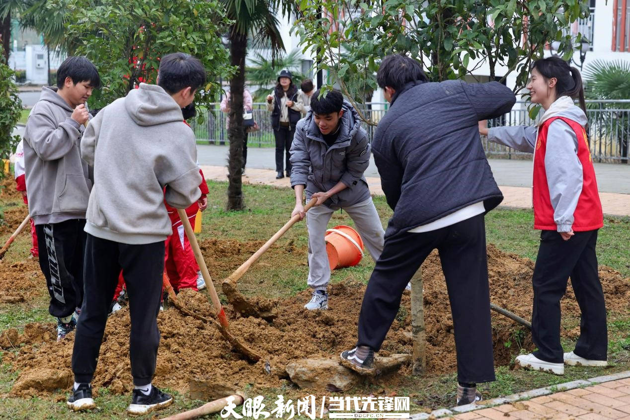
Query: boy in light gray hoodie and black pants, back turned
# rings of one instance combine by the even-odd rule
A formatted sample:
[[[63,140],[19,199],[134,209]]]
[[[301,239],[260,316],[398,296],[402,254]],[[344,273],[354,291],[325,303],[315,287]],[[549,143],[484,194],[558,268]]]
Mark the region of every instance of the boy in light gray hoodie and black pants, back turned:
[[[169,205],[184,209],[200,198],[195,136],[181,108],[205,83],[205,69],[191,55],[162,58],[157,85],[139,89],[103,108],[81,141],[83,159],[94,166],[89,196],[85,293],[72,352],[74,410],[95,407],[91,380],[107,314],[121,269],[127,284],[134,379],[131,414],[173,402],[151,385],[155,373],[162,295],[164,240],[171,235]],[[164,187],[166,192],[164,193]]]

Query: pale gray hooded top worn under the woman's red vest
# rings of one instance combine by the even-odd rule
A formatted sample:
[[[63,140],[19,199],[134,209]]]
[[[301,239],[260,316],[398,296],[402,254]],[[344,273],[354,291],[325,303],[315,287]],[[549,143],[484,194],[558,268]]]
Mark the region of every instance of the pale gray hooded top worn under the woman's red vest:
[[[560,100],[566,102],[563,98],[566,96],[562,96],[556,102]],[[549,110],[551,112],[546,112],[541,122],[551,117],[565,117],[582,126],[588,122],[583,110],[573,105],[573,102],[558,112],[553,112],[551,107]],[[537,132],[536,126],[492,127],[488,131],[488,140],[520,151],[534,153]],[[558,232],[571,231],[573,212],[582,192],[583,169],[577,152],[578,138],[573,129],[563,120],[554,120],[547,132],[545,172]]]

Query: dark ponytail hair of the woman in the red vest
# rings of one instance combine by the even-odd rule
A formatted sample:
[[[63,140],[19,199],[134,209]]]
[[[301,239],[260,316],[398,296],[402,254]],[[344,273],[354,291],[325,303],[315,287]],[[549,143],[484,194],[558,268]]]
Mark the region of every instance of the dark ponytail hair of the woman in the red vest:
[[[566,95],[573,99],[579,99],[580,108],[582,108],[584,114],[587,113],[582,78],[578,69],[569,66],[568,62],[557,55],[535,61],[532,69],[537,69],[545,79],[556,78],[556,93],[558,98]]]

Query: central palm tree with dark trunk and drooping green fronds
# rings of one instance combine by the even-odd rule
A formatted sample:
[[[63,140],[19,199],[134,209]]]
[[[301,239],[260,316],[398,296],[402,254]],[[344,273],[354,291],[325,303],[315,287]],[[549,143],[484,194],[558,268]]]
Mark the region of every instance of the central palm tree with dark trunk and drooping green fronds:
[[[230,43],[231,64],[237,67],[236,74],[230,81],[227,209],[242,210],[245,207],[241,182],[244,141],[243,90],[248,37],[251,35],[254,48],[270,49],[272,59],[275,59],[279,52],[284,51],[275,13],[282,8],[285,16],[290,15],[294,10],[294,4],[291,0],[225,0],[225,4],[227,17],[234,21],[227,37]]]

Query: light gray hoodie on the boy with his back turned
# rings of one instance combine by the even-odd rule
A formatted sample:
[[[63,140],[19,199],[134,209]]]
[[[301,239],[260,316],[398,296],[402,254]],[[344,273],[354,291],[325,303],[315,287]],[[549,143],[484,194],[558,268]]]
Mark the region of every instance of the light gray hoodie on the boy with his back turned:
[[[81,152],[94,166],[90,235],[132,245],[161,242],[172,233],[164,199],[183,209],[200,197],[195,135],[157,85],[140,83],[96,114]]]

